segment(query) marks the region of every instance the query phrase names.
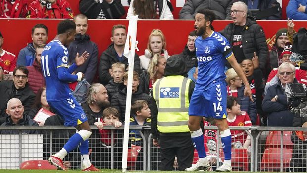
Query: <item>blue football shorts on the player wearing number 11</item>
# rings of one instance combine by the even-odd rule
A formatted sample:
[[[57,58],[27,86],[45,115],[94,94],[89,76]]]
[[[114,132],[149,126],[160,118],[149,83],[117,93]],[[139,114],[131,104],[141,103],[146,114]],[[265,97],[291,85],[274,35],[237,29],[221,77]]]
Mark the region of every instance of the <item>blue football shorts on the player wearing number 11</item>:
[[[65,126],[75,127],[88,120],[82,107],[74,97],[55,102],[48,101],[48,104],[64,119]]]

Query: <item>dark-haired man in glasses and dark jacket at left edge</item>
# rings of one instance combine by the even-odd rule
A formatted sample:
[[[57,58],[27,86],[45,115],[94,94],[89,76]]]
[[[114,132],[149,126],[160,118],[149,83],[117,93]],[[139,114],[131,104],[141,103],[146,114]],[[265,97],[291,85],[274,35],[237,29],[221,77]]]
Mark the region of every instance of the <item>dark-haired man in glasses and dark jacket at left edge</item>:
[[[18,98],[24,106],[24,113],[28,114],[34,103],[35,94],[28,85],[29,71],[26,67],[20,66],[13,71],[13,80],[0,82],[0,117],[7,117],[5,109],[11,98]]]

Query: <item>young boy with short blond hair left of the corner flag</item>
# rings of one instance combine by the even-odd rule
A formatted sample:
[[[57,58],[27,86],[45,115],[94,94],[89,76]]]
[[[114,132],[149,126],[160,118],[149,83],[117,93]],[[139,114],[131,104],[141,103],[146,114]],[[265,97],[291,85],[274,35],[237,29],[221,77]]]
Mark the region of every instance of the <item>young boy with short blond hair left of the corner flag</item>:
[[[111,76],[113,79],[109,81],[105,88],[109,95],[109,101],[111,101],[112,96],[118,93],[118,85],[123,82],[123,77],[125,73],[125,64],[121,62],[116,62],[112,64]]]

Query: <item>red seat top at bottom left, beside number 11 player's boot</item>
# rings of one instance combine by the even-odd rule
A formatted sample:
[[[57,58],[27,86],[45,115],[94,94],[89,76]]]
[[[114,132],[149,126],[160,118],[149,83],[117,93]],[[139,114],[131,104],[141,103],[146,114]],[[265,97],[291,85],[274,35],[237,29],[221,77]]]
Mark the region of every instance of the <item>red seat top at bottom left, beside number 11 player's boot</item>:
[[[30,160],[20,164],[21,170],[57,170],[56,166],[51,165],[47,160]]]

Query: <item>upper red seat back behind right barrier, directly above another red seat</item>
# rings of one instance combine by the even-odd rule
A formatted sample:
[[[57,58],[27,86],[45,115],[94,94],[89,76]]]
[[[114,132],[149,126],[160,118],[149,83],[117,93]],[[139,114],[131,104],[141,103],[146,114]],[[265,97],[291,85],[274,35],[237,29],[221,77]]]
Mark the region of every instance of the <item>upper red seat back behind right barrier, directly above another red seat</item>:
[[[292,148],[293,143],[291,141],[292,131],[284,131],[283,134],[283,145],[284,148]],[[270,131],[269,135],[266,137],[265,148],[280,148],[281,146],[281,132],[280,131]]]

